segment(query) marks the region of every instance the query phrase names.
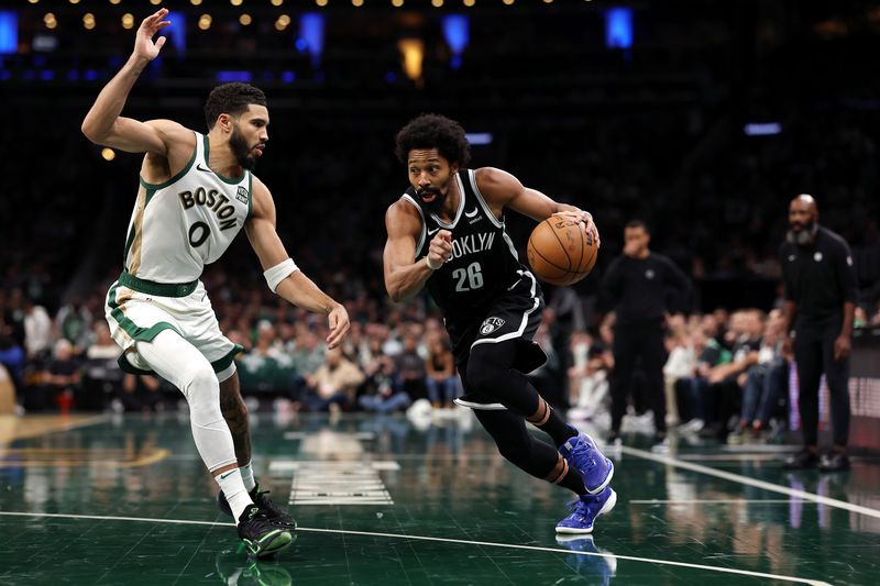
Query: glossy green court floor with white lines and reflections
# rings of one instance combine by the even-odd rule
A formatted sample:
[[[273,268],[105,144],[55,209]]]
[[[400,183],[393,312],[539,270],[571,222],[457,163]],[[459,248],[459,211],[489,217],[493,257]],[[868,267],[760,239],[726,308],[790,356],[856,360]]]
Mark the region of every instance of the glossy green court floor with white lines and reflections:
[[[617,507],[561,539],[569,495],[502,460],[466,411],[261,416],[258,478],[299,530],[255,563],[186,414],[15,429],[0,443],[0,584],[873,584],[880,570],[870,458],[784,473],[778,449],[656,454],[632,435],[612,453]]]

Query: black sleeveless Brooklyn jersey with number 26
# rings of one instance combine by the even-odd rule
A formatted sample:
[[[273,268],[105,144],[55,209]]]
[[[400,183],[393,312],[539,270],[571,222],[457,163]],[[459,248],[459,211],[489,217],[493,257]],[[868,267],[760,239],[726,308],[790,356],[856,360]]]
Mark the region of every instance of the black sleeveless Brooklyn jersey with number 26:
[[[416,258],[428,254],[439,230],[452,232],[452,258],[428,279],[427,287],[447,318],[472,318],[495,297],[505,292],[526,270],[514,243],[476,187],[473,169],[460,169],[454,179],[461,194],[459,209],[446,223],[421,203],[414,188],[404,199],[416,206],[422,219]]]

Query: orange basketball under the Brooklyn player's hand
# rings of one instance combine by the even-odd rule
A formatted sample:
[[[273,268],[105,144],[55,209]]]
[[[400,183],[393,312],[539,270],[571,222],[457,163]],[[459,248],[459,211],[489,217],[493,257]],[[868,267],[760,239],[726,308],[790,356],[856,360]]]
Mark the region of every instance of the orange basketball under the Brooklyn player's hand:
[[[593,269],[598,247],[580,225],[551,215],[531,231],[527,252],[538,278],[551,285],[573,285]]]

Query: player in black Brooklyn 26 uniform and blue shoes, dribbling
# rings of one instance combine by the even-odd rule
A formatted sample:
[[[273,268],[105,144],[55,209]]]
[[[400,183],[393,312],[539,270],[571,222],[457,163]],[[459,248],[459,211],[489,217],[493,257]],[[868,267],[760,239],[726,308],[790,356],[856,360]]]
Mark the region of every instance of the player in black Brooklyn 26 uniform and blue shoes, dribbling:
[[[614,508],[614,466],[593,440],[566,424],[525,376],[547,360],[531,341],[543,298],[504,229],[504,209],[541,221],[564,215],[598,234],[591,215],[557,203],[501,169],[468,168],[470,145],[457,122],[422,114],[397,134],[410,187],[385,215],[385,286],[394,301],[427,287],[443,311],[465,394],[504,457],[578,494],[560,533],[590,533]],[[526,421],[554,445],[536,441]]]

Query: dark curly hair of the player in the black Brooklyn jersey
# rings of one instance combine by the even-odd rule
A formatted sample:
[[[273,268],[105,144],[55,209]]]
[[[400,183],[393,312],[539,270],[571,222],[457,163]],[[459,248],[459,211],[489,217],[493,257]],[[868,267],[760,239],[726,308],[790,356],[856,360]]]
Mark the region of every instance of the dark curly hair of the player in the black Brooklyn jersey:
[[[397,133],[397,158],[406,165],[409,152],[414,148],[437,148],[450,163],[466,167],[471,162],[471,143],[464,129],[449,118],[440,114],[421,114]]]

